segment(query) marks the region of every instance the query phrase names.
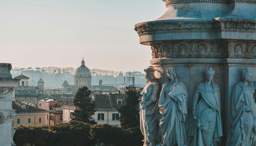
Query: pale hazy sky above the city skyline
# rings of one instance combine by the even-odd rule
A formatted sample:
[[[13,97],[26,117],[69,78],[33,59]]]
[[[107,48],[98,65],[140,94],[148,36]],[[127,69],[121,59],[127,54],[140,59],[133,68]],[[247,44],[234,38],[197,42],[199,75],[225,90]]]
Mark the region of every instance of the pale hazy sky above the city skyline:
[[[164,12],[162,0],[0,0],[0,62],[143,71],[151,49],[134,25]]]

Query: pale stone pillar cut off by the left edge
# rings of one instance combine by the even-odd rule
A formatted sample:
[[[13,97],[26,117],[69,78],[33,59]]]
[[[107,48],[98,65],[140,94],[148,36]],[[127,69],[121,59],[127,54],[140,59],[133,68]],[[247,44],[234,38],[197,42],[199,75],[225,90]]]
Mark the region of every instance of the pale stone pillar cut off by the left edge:
[[[15,130],[12,128],[12,120],[15,110],[12,110],[14,99],[14,87],[17,87],[20,79],[13,79],[10,70],[11,64],[0,63],[0,146],[15,145],[12,141]]]

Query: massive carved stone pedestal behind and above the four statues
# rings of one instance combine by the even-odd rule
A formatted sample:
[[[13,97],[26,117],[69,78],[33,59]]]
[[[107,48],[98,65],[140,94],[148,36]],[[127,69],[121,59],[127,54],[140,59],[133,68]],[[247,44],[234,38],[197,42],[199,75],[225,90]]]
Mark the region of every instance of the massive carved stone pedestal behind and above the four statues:
[[[189,128],[196,121],[193,96],[197,86],[206,80],[205,70],[210,67],[215,70],[222,124],[222,137],[218,141],[219,145],[229,146],[227,137],[233,128],[231,99],[236,83],[243,79],[241,72],[245,66],[252,73],[252,81],[256,81],[256,0],[163,2],[166,11],[160,18],[135,24],[139,42],[151,46],[150,63],[160,73],[161,84],[166,82],[166,69],[173,68],[187,87],[185,132],[190,146],[197,141]]]

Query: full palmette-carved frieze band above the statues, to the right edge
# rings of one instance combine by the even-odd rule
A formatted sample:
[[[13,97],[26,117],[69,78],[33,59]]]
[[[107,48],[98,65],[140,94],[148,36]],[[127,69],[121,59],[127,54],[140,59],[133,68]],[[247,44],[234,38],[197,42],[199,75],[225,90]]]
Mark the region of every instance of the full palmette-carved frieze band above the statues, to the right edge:
[[[256,58],[256,42],[168,41],[151,43],[152,58]]]

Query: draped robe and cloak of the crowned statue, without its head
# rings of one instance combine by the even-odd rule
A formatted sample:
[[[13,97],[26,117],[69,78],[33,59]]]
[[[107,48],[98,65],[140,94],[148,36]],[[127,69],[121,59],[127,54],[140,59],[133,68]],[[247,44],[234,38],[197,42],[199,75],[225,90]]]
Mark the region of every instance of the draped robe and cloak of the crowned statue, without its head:
[[[189,128],[189,136],[193,137],[193,146],[217,146],[217,143],[219,141],[219,137],[222,137],[222,124],[221,124],[221,97],[220,97],[220,91],[217,84],[213,83],[215,90],[213,91],[206,91],[205,89],[205,83],[200,83],[197,86],[197,89],[193,96],[193,101],[198,98],[198,102],[196,104],[196,116],[199,121],[205,121],[205,120],[211,120],[214,124],[211,124],[211,126],[215,127],[207,127],[208,129],[202,129],[197,127],[197,123],[199,123],[197,120],[191,121],[191,126]],[[210,108],[210,109],[209,109]],[[203,112],[208,109],[207,111],[214,112],[211,114],[214,114],[216,117],[215,119],[202,119]],[[215,110],[213,110],[215,109]],[[216,112],[216,113],[215,113]],[[204,113],[207,114],[207,113]],[[210,115],[210,114],[209,114]],[[207,118],[212,118],[207,117]],[[211,132],[210,134],[207,134],[207,132]],[[209,139],[210,138],[210,139]]]

